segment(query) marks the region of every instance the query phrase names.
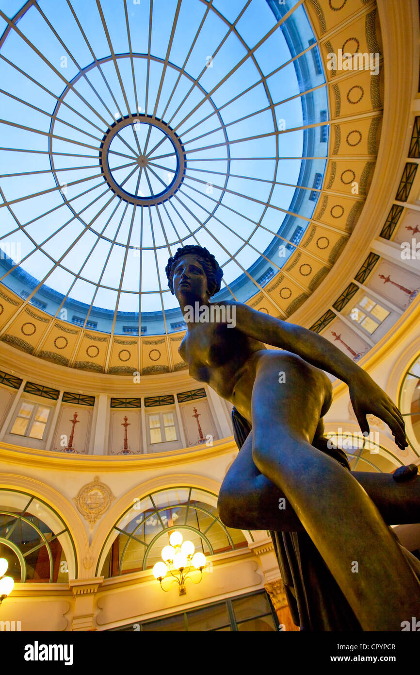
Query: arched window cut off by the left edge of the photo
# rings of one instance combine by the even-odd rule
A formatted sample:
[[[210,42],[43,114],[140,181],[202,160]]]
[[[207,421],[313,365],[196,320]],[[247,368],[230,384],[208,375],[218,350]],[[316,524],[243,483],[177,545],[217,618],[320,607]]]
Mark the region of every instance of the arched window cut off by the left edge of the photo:
[[[0,490],[0,557],[9,563],[7,574],[20,583],[66,583],[69,566],[77,574],[73,541],[62,518],[17,490]]]

